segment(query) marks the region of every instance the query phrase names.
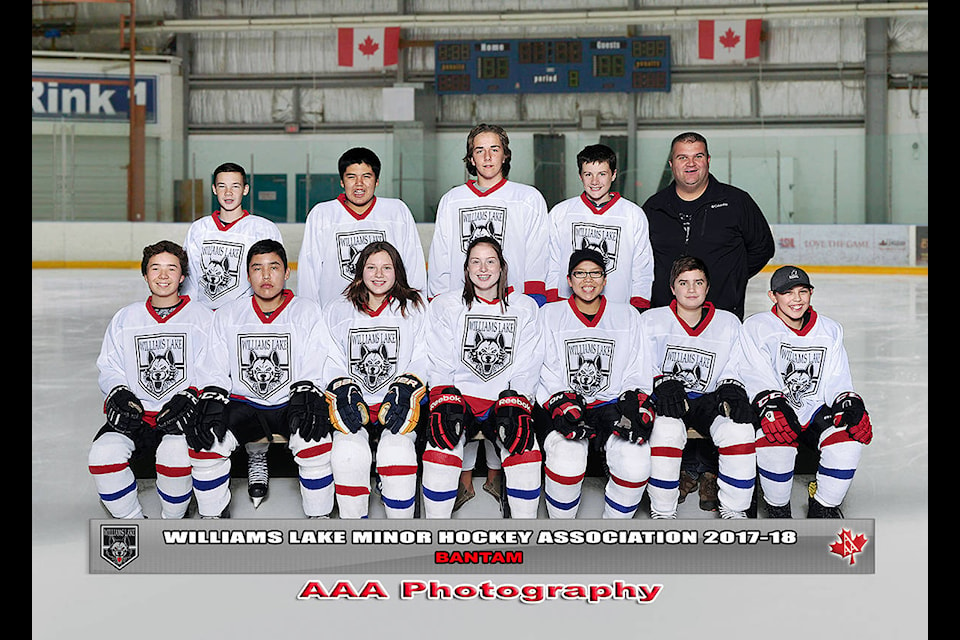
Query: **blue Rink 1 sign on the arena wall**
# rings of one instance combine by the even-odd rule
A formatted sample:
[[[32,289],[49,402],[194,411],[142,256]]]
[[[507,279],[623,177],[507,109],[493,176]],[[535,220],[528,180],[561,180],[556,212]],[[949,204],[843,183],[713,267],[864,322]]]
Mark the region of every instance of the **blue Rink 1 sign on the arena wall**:
[[[137,104],[147,110],[146,121],[157,121],[157,78],[137,76]],[[33,75],[33,118],[55,120],[102,120],[130,118],[130,81],[124,76]]]

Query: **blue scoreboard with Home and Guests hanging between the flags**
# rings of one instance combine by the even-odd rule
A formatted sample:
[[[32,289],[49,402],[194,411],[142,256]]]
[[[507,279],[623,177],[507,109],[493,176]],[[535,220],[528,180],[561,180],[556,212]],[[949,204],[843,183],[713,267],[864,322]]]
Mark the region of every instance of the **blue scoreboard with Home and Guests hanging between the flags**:
[[[449,40],[434,55],[439,94],[670,91],[670,36]]]

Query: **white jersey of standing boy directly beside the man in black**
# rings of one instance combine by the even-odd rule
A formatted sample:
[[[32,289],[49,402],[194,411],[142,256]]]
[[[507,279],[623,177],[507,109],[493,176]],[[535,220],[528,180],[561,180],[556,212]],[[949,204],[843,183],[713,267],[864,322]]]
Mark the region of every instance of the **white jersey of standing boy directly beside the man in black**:
[[[613,193],[597,208],[585,194],[558,203],[550,210],[550,261],[547,299],[569,298],[567,267],[577,249],[594,249],[607,260],[603,295],[611,302],[650,306],[653,289],[653,250],[647,216],[639,206]]]

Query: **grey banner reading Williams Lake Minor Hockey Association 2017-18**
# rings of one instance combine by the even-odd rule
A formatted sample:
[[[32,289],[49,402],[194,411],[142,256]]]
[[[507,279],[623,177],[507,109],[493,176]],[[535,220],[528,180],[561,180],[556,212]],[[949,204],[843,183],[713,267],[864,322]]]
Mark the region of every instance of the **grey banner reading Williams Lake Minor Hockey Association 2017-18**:
[[[91,520],[90,573],[872,574],[870,520]]]

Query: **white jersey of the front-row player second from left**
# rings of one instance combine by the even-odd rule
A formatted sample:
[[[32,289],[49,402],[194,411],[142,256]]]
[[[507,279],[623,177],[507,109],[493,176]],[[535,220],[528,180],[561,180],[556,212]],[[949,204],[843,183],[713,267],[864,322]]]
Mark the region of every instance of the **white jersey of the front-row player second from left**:
[[[200,365],[202,387],[265,407],[287,402],[294,382],[326,387],[330,332],[320,305],[289,289],[281,295],[284,302],[269,316],[253,296],[217,310]]]

